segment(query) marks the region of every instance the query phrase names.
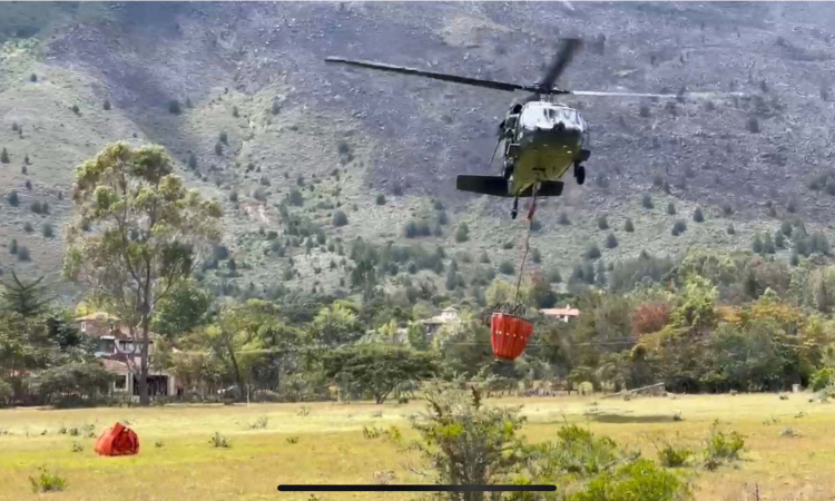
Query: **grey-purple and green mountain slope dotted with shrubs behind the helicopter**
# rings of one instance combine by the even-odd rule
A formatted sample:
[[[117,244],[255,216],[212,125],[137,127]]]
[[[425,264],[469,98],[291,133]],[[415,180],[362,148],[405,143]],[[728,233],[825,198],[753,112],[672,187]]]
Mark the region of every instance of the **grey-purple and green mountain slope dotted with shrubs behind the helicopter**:
[[[65,197],[72,168],[120,139],[165,145],[191,186],[224,200],[225,244],[238,266],[224,277],[206,271],[222,288],[344,288],[337,239],[356,236],[442,245],[468,273],[475,265],[464,255],[487,252],[493,267],[515,262],[522,222],[510,222],[507,200],[455,193],[454,177],[488,171],[497,125],[519,96],[323,59],[532,82],[564,36],[591,41],[561,82],[569,88],[753,97],[568,99],[591,124],[590,180],[543,204],[533,238],[541,266],[568,276],[583,249],[603,248],[612,232],[619,245],[603,248],[609,263],[642,249],[749,248],[756,232],[774,232],[785,218],[831,230],[828,3],[7,6],[0,147],[9,163],[0,164],[0,194],[8,200],[13,190],[19,203],[0,204],[0,269],[55,277],[60,226],[72,213]],[[498,171],[498,163],[490,168]],[[641,206],[648,193],[652,209]],[[434,226],[444,218],[432,199],[446,207],[449,224],[405,239],[410,219]],[[33,202],[47,202],[48,214],[35,214]],[[670,202],[677,215],[667,214]],[[692,222],[696,207],[705,223]],[[336,210],[346,226],[333,225]],[[558,224],[562,213],[570,225]],[[600,215],[611,229],[599,229]],[[622,229],[627,217],[633,233]],[[310,250],[305,235],[288,234],[288,218],[307,226]],[[688,229],[672,236],[677,219]],[[463,243],[454,238],[461,223],[470,227]],[[53,236],[45,236],[46,225]],[[30,261],[8,253],[12,239]]]

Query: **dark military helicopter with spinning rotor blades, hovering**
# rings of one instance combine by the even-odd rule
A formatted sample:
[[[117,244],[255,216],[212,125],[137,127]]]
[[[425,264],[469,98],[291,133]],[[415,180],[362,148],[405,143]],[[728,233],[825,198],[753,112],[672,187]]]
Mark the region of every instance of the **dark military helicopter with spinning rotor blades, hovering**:
[[[615,96],[645,98],[681,98],[682,95],[577,91],[556,87],[574,55],[581,48],[579,39],[563,39],[542,79],[533,85],[510,84],[480,78],[425,71],[382,62],[328,57],[326,62],[371,68],[404,75],[415,75],[455,84],[505,91],[527,91],[531,95],[514,102],[499,125],[499,145],[504,143],[501,176],[458,176],[455,187],[498,197],[512,197],[511,217],[515,219],[520,197],[557,197],[562,194],[560,180],[572,168],[578,185],[586,181],[583,163],[591,156],[589,130],[582,115],[573,108],[556,102],[554,96]],[[495,154],[493,154],[495,155]],[[492,159],[491,159],[492,164]]]

